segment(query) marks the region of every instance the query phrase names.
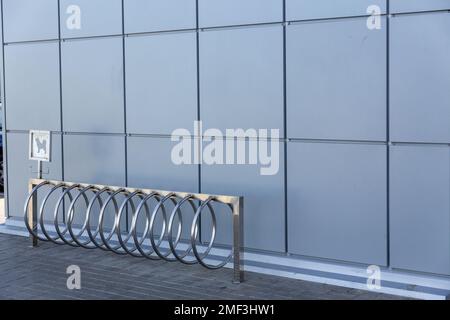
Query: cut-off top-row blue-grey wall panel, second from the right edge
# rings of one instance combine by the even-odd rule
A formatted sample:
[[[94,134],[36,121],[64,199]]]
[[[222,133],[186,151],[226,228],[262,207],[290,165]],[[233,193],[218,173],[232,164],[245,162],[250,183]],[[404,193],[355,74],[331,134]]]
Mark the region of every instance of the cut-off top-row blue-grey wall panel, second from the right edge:
[[[380,13],[386,12],[386,0],[286,0],[286,19],[362,16],[368,14],[370,6],[377,6]]]

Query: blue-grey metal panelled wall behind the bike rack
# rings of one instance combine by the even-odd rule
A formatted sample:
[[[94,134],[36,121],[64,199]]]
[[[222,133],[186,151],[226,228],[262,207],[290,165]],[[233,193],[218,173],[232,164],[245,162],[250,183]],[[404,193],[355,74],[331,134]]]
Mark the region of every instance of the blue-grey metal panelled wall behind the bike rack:
[[[3,0],[8,213],[27,130],[51,130],[46,179],[241,194],[247,248],[450,274],[449,9]],[[195,120],[279,129],[279,170],[173,164],[170,134]]]

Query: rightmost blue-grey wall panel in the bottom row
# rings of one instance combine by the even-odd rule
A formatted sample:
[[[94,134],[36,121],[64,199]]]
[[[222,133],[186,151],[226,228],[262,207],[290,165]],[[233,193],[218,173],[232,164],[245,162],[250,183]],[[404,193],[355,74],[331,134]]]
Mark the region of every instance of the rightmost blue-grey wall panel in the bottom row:
[[[393,146],[390,152],[394,268],[450,274],[450,148]]]

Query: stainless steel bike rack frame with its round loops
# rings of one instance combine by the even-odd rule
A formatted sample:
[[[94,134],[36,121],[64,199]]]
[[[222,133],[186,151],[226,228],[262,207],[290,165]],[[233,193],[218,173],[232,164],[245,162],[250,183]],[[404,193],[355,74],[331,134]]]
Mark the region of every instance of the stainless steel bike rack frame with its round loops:
[[[75,235],[73,232],[70,232],[69,234],[64,233],[64,237],[68,237],[68,238],[61,238],[63,237],[63,233],[61,233],[60,231],[58,231],[59,237],[60,239],[58,240],[57,238],[49,238],[50,236],[44,232],[44,236],[41,236],[38,234],[39,230],[38,230],[38,224],[40,223],[42,226],[42,221],[39,222],[39,219],[42,218],[41,215],[43,214],[43,212],[38,212],[38,191],[39,188],[41,186],[52,186],[58,188],[61,187],[62,189],[65,189],[65,192],[68,192],[69,190],[72,190],[74,192],[80,192],[80,190],[83,189],[89,189],[89,190],[97,190],[96,192],[102,192],[100,190],[108,190],[110,192],[111,197],[113,197],[113,201],[114,200],[114,195],[116,194],[128,194],[131,195],[133,193],[138,193],[143,196],[143,200],[140,204],[140,207],[145,207],[146,204],[146,200],[145,200],[145,195],[151,196],[151,195],[156,195],[157,199],[171,199],[174,201],[175,204],[177,204],[177,201],[175,199],[192,199],[192,201],[198,201],[199,203],[203,203],[203,206],[199,206],[199,208],[197,209],[197,213],[196,213],[196,217],[197,220],[194,218],[195,221],[192,222],[192,226],[191,226],[191,245],[190,245],[190,249],[188,248],[188,251],[193,254],[193,258],[195,258],[196,260],[192,260],[190,262],[186,262],[186,260],[183,260],[183,257],[180,257],[179,254],[177,254],[177,249],[176,246],[178,244],[178,240],[173,240],[172,236],[168,235],[168,232],[170,230],[170,228],[167,227],[168,225],[168,221],[166,220],[166,223],[164,224],[163,228],[166,228],[163,233],[161,234],[161,236],[167,235],[167,241],[169,242],[170,245],[170,250],[171,252],[166,250],[166,254],[161,254],[161,251],[159,250],[159,246],[161,244],[161,242],[159,241],[158,243],[154,242],[153,239],[151,238],[151,246],[153,248],[153,253],[158,254],[157,256],[153,255],[151,256],[150,254],[146,254],[144,255],[144,253],[146,252],[145,250],[142,250],[142,247],[140,247],[142,245],[142,242],[140,242],[138,240],[139,236],[137,236],[137,229],[136,226],[132,226],[131,229],[129,230],[129,234],[127,237],[127,241],[129,241],[130,239],[134,239],[135,241],[135,249],[133,249],[133,253],[130,252],[129,248],[126,247],[127,243],[123,243],[123,241],[120,243],[120,246],[115,246],[114,249],[111,249],[111,245],[108,243],[104,243],[104,241],[109,242],[111,237],[105,237],[105,235],[103,234],[103,228],[100,228],[100,235],[101,235],[101,241],[100,239],[96,240],[96,237],[99,235],[98,232],[94,232],[95,235],[92,235],[92,232],[89,231],[88,235],[90,238],[90,241],[92,242],[92,244],[95,244],[97,247],[101,247],[102,249],[108,250],[108,248],[115,252],[115,253],[119,253],[119,254],[123,254],[123,253],[130,253],[133,255],[137,255],[137,256],[141,256],[141,257],[146,257],[149,259],[163,259],[166,261],[180,261],[180,262],[184,262],[184,263],[188,263],[188,264],[195,264],[195,263],[199,263],[200,265],[202,265],[205,268],[208,269],[219,269],[225,265],[227,265],[229,262],[231,262],[230,260],[233,259],[232,262],[232,266],[233,266],[233,283],[241,283],[242,281],[244,281],[244,198],[243,197],[237,197],[237,196],[227,196],[227,195],[210,195],[210,194],[202,194],[202,193],[187,193],[187,192],[173,192],[173,191],[163,191],[163,190],[154,190],[154,189],[137,189],[137,188],[123,188],[123,187],[117,187],[117,186],[106,186],[106,185],[94,185],[94,184],[85,184],[85,183],[74,183],[74,182],[65,182],[65,181],[56,181],[56,180],[43,180],[43,179],[30,179],[29,181],[29,196],[27,198],[27,203],[25,204],[25,223],[27,224],[27,228],[29,230],[29,232],[31,233],[31,237],[32,237],[32,245],[33,247],[36,247],[38,245],[38,240],[42,240],[42,241],[52,241],[52,242],[56,242],[56,241],[63,241],[66,244],[70,244],[73,246],[78,246],[77,244],[80,243],[80,239],[79,237],[81,237],[81,234],[86,231],[82,231],[80,234]],[[78,191],[77,191],[78,190]],[[94,192],[95,193],[95,192]],[[64,193],[62,194],[62,196],[64,196]],[[84,194],[83,196],[86,196],[86,194]],[[45,197],[44,197],[45,198]],[[76,201],[77,197],[72,197],[69,194],[69,198],[71,201],[71,205],[67,206],[68,208],[73,207],[74,205],[74,201]],[[93,198],[93,200],[95,199],[95,197]],[[61,201],[61,199],[60,199]],[[159,208],[162,207],[163,209],[163,216],[165,217],[165,219],[168,218],[168,216],[165,213],[165,209],[164,209],[164,204],[163,201],[164,200],[158,200],[160,201],[158,206]],[[72,203],[73,202],[73,203]],[[216,264],[216,265],[211,265],[208,264],[207,262],[205,262],[204,260],[207,258],[207,256],[209,255],[209,252],[213,246],[214,243],[214,237],[211,240],[211,243],[209,245],[207,245],[206,251],[204,251],[203,253],[200,253],[196,246],[197,246],[197,240],[196,240],[196,236],[198,235],[198,217],[201,214],[201,210],[204,207],[208,207],[208,210],[210,211],[211,215],[213,216],[213,219],[215,221],[215,213],[214,213],[214,209],[211,206],[212,202],[217,202],[220,204],[225,204],[230,210],[231,210],[231,219],[232,219],[232,226],[233,226],[233,230],[232,230],[232,248],[231,251],[229,253],[229,256],[224,259],[221,263]],[[101,212],[104,212],[106,209],[106,206],[108,205],[108,202],[105,202],[101,208]],[[120,207],[120,206],[118,206]],[[139,206],[137,206],[137,208],[139,208]],[[180,206],[175,207],[176,209],[174,209],[174,211],[172,212],[172,215],[175,215],[177,213],[177,211],[181,210]],[[42,211],[44,208],[41,207],[40,211]],[[58,207],[55,209],[57,210]],[[158,209],[158,208],[157,208]],[[138,215],[139,214],[139,210],[140,209],[136,209],[136,211],[133,211],[133,215]],[[56,212],[56,211],[55,211]],[[90,214],[90,210],[89,208],[86,211],[86,215]],[[153,215],[151,217],[150,220],[154,220],[155,215],[158,214],[158,210],[155,210]],[[100,214],[101,215],[101,214]],[[150,218],[150,216],[148,216],[147,218]],[[173,218],[173,217],[172,217]],[[65,224],[68,225],[68,227],[71,227],[72,224],[72,220],[73,219],[73,214],[72,215],[68,215],[68,219],[69,221],[66,221]],[[87,217],[87,219],[89,220],[90,218]],[[119,214],[116,212],[116,220],[120,220]],[[101,220],[99,220],[100,223]],[[173,220],[172,220],[173,221]],[[115,225],[117,225],[117,223],[120,223],[120,221],[115,221]],[[182,223],[182,222],[180,222]],[[55,227],[58,226],[59,222],[58,222],[58,217],[55,214],[55,220],[54,220],[54,224]],[[133,225],[133,224],[132,224]],[[43,227],[43,226],[42,226]],[[182,226],[180,225],[180,228],[182,228]],[[216,234],[216,226],[214,223],[213,226],[213,234]],[[67,227],[65,229],[66,231],[68,230]],[[45,230],[44,230],[45,231]],[[113,230],[114,231],[114,230]],[[117,231],[116,232],[120,232]],[[148,235],[149,230],[147,230],[147,233],[144,234],[144,236]],[[152,234],[152,230],[150,232],[150,234]],[[111,233],[112,235],[112,233]],[[131,237],[133,235],[133,237]],[[72,239],[70,239],[70,237]],[[74,238],[75,237],[75,238]],[[98,244],[98,241],[103,242],[103,244]],[[139,247],[139,250],[137,250]],[[121,251],[122,250],[122,251]],[[175,254],[173,253],[175,251]],[[141,255],[139,255],[137,252],[140,252]],[[187,252],[186,251],[186,254]],[[170,254],[173,255],[172,257],[168,257]],[[159,258],[158,258],[159,256]]]

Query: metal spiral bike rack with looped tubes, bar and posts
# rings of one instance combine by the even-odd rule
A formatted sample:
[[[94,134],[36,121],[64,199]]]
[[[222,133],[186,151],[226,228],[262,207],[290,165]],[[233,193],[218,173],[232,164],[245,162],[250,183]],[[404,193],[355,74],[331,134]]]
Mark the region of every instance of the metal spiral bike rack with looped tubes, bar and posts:
[[[43,203],[41,204],[40,209],[38,210],[38,190],[41,187],[48,186],[51,187],[51,190],[47,192],[46,196],[44,197]],[[103,250],[110,250],[115,253],[119,254],[131,254],[133,256],[145,256],[149,259],[163,259],[166,261],[180,261],[186,264],[196,264],[199,263],[202,266],[209,268],[209,269],[218,269],[223,266],[225,266],[229,260],[233,260],[233,282],[234,283],[240,283],[244,280],[244,264],[243,264],[243,245],[244,245],[244,198],[240,196],[227,196],[227,195],[211,195],[211,194],[203,194],[203,193],[188,193],[188,192],[174,192],[174,191],[165,191],[165,190],[157,190],[157,189],[146,189],[146,188],[128,188],[128,187],[119,187],[119,186],[109,186],[109,185],[101,185],[101,184],[87,184],[87,183],[76,183],[76,182],[65,182],[65,181],[58,181],[58,180],[44,180],[44,179],[30,179],[29,180],[29,196],[26,200],[25,207],[24,207],[24,220],[25,224],[28,228],[28,231],[30,232],[30,236],[32,238],[32,244],[33,246],[38,245],[38,241],[52,241],[57,244],[70,244],[72,246],[82,246],[85,248],[95,248],[97,246],[100,249]],[[47,201],[50,194],[60,189],[64,191],[62,195],[59,198],[59,202],[57,206],[55,207],[54,211],[54,224],[55,228],[59,234],[59,238],[53,238],[51,237],[44,228],[44,222],[43,222],[43,211],[45,210],[45,201]],[[77,196],[73,197],[72,191],[77,192]],[[99,218],[99,225],[98,225],[98,232],[96,231],[94,235],[92,235],[92,230],[90,227],[90,214],[91,209],[88,206],[88,198],[86,196],[86,193],[90,191],[94,194],[93,199],[90,200],[89,204],[94,203],[96,200],[99,201],[99,204],[101,205],[100,210],[100,218]],[[99,195],[105,192],[106,195],[109,196],[108,200],[105,201],[103,204],[102,200],[99,199]],[[131,230],[128,230],[128,236],[126,237],[125,243],[123,243],[122,239],[122,232],[120,230],[120,218],[121,218],[121,211],[118,210],[118,205],[115,199],[115,196],[118,194],[126,195],[128,196],[127,199],[122,202],[120,206],[120,210],[123,210],[124,207],[127,207],[129,204],[133,207],[133,223],[131,226]],[[58,221],[58,210],[60,209],[59,205],[61,204],[61,201],[64,200],[65,196],[68,196],[70,199],[70,205],[67,206],[68,208],[68,221],[65,222],[66,227],[63,232],[60,232],[59,229],[59,221]],[[133,197],[137,196],[139,197],[139,205],[134,206]],[[154,197],[158,201],[158,204],[156,205],[153,214],[150,216],[149,209],[147,206],[148,199]],[[74,235],[72,231],[72,222],[75,215],[75,202],[79,199],[84,199],[86,201],[86,216],[85,219],[87,221],[87,227],[84,226],[84,229],[79,233],[77,236]],[[165,212],[164,202],[166,200],[172,201],[174,204],[174,210],[172,211],[170,215],[170,219],[167,218],[167,214]],[[178,201],[177,201],[178,200]],[[115,222],[114,222],[114,232],[116,235],[120,238],[120,246],[111,246],[109,243],[109,240],[111,239],[111,236],[113,235],[113,232],[110,232],[110,235],[108,237],[105,237],[104,231],[103,231],[103,214],[106,211],[106,207],[108,206],[108,203],[114,204],[116,208],[115,212]],[[206,263],[204,260],[207,258],[211,248],[213,247],[213,243],[215,240],[215,234],[216,234],[216,218],[215,218],[215,212],[212,207],[212,203],[217,202],[221,204],[227,205],[231,209],[232,213],[232,249],[230,256],[223,261],[221,264],[217,266],[212,266]],[[185,250],[184,254],[181,256],[176,249],[182,229],[182,211],[181,206],[183,203],[190,203],[191,207],[194,209],[195,215],[194,219],[191,225],[191,243],[187,250]],[[198,203],[198,206],[196,205]],[[136,208],[136,209],[135,209]],[[139,240],[139,237],[137,236],[137,219],[140,213],[140,210],[144,208],[147,213],[147,222],[146,227],[144,231],[144,235],[142,236],[142,239]],[[210,243],[203,253],[199,253],[197,250],[197,238],[199,234],[199,218],[201,216],[202,210],[208,208],[210,211],[211,217],[213,218],[213,232],[211,236]],[[163,214],[163,231],[160,236],[160,239],[158,243],[155,243],[154,237],[153,237],[153,227],[154,227],[154,220],[156,215],[160,212],[160,209],[162,210]],[[65,213],[66,214],[66,213]],[[179,218],[179,225],[178,225],[178,234],[175,238],[175,241],[173,239],[172,235],[172,226],[174,224],[174,218],[178,215]],[[150,225],[150,227],[148,227]],[[39,226],[41,227],[41,232],[43,232],[44,236],[39,235]],[[68,232],[70,235],[68,234]],[[87,232],[90,238],[89,245],[92,245],[92,247],[88,247],[86,243],[81,243],[80,237],[81,235]],[[150,254],[147,254],[145,250],[142,248],[144,240],[146,240],[146,237],[148,236],[150,232],[150,241],[152,245],[153,252]],[[101,239],[98,239],[98,235],[100,235]],[[170,245],[170,250],[167,251],[166,254],[162,254],[159,250],[159,246],[162,242],[161,239],[163,239],[165,236],[168,238],[168,242]],[[129,241],[134,239],[134,246],[133,249],[129,248]],[[95,246],[94,246],[95,245]],[[156,255],[155,255],[156,254]],[[187,256],[194,256],[196,259],[187,260]]]

